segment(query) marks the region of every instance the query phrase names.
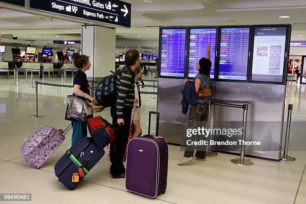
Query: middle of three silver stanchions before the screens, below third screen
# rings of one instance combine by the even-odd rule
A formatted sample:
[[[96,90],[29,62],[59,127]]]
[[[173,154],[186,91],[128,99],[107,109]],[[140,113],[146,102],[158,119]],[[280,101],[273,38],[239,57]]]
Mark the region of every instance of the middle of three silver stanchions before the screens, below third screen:
[[[245,136],[246,136],[247,109],[248,109],[248,105],[243,104],[242,144],[241,144],[241,150],[240,150],[240,158],[233,158],[230,160],[232,163],[235,163],[238,165],[252,165],[253,164],[251,160],[244,158],[245,144],[243,142],[245,141]]]

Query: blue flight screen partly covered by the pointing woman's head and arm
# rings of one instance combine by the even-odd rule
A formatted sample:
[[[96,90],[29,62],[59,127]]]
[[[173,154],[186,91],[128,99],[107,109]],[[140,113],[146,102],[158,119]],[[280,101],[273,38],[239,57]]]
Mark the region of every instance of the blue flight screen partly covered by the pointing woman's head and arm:
[[[198,73],[196,64],[200,58],[206,57],[206,46],[209,43],[211,45],[210,78],[214,78],[216,30],[216,28],[190,28],[188,77],[194,77]]]

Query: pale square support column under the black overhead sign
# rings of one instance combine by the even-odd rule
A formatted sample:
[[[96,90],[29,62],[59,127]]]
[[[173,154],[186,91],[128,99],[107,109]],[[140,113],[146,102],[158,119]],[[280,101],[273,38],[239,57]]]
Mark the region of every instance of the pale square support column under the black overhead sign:
[[[109,75],[115,68],[116,33],[114,28],[82,25],[81,53],[90,57],[91,68],[87,77],[94,79]]]

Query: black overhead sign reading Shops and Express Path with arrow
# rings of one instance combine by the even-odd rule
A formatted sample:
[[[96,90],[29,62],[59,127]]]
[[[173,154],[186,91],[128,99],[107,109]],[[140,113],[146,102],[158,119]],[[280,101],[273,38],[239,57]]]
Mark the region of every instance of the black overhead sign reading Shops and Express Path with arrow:
[[[120,0],[30,0],[30,8],[130,27],[131,4]]]

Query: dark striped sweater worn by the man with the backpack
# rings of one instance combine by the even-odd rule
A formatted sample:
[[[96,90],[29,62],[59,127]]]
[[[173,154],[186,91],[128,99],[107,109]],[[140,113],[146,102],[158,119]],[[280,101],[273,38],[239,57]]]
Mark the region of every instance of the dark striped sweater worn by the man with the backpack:
[[[124,66],[116,76],[117,85],[117,101],[116,101],[116,112],[117,118],[123,118],[124,106],[132,108],[135,100],[135,83],[134,83],[134,72],[129,66]],[[126,70],[126,71],[124,71]]]

